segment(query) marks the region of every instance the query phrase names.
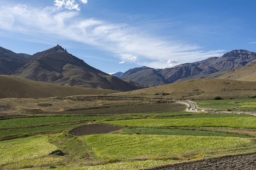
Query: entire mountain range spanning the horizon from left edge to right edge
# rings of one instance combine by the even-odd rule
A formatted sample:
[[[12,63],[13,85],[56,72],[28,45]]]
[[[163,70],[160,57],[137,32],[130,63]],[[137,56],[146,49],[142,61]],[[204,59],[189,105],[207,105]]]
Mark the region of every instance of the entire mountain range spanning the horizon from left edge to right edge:
[[[254,63],[255,62],[255,63]],[[34,55],[0,47],[0,74],[57,85],[131,91],[196,78],[256,80],[256,53],[232,50],[221,57],[184,63],[171,68],[146,66],[109,75],[57,45]]]

